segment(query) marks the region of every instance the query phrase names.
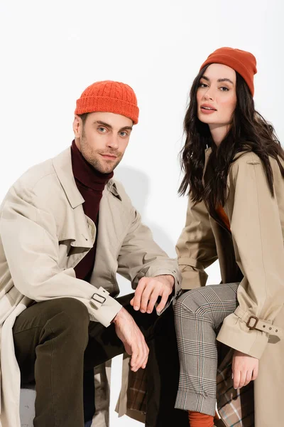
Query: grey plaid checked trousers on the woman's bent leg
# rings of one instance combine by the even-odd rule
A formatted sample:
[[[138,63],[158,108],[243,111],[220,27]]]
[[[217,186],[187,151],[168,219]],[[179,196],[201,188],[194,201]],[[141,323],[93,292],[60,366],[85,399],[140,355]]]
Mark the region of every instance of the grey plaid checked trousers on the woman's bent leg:
[[[216,336],[236,310],[239,283],[190,290],[175,302],[180,381],[175,407],[214,416],[218,352]]]

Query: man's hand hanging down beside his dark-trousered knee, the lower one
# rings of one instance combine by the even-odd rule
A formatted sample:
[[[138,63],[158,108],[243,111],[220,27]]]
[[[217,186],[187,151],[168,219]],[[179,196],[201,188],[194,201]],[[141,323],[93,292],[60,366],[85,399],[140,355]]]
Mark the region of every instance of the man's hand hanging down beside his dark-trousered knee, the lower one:
[[[124,307],[114,317],[116,335],[124,343],[126,352],[131,356],[131,370],[145,369],[148,362],[149,349],[141,330]]]

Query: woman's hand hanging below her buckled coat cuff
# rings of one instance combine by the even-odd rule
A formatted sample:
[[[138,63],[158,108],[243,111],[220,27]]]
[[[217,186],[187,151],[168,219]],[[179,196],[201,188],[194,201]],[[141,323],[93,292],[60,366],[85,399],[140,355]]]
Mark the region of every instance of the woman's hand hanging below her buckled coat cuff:
[[[258,376],[258,359],[248,354],[234,351],[232,363],[234,389],[241,389],[247,386],[251,380]]]

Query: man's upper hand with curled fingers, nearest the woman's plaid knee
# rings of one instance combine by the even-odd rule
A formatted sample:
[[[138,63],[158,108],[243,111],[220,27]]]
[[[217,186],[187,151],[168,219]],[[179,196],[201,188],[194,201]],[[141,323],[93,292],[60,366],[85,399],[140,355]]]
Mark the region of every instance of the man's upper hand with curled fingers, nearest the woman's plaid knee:
[[[141,313],[151,313],[158,297],[161,297],[157,311],[160,312],[165,307],[169,295],[173,292],[175,279],[172,275],[159,275],[155,278],[142,278],[139,280],[135,290],[135,295],[131,300],[134,310]]]

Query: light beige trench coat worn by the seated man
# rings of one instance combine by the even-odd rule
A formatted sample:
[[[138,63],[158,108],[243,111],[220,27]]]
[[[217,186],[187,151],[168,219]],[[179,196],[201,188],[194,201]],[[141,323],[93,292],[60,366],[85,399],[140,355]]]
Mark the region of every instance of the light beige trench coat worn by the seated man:
[[[23,174],[1,204],[1,427],[20,427],[20,373],[12,327],[33,300],[75,297],[86,305],[90,320],[108,327],[121,308],[114,299],[119,294],[116,272],[131,280],[133,288],[143,276],[163,274],[174,276],[176,292],[180,288],[178,263],[155,244],[123,187],[114,180],[104,189],[99,208],[92,278],[90,283],[77,279],[74,267],[96,236],[83,202],[68,148]]]

